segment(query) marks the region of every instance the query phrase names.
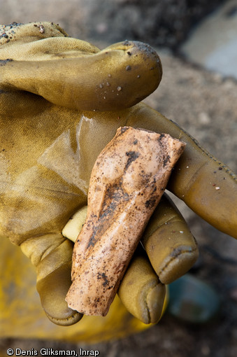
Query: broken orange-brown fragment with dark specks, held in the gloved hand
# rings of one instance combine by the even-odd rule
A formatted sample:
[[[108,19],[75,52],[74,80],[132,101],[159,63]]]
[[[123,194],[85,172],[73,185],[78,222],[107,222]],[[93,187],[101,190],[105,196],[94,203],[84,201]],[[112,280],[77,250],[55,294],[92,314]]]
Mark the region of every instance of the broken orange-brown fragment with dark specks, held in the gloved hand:
[[[185,144],[120,127],[97,158],[87,220],[73,250],[71,309],[105,316]]]

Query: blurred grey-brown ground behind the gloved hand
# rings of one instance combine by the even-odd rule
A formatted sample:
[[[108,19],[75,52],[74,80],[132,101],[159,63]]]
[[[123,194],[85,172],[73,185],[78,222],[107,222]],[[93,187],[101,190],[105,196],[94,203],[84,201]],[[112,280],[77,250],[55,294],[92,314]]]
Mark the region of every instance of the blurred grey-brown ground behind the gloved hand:
[[[0,0],[0,4],[1,24],[46,20],[101,48],[124,39],[153,45],[164,76],[146,102],[237,171],[237,1]],[[182,202],[176,203],[199,242],[200,259],[192,274],[219,293],[220,314],[207,325],[192,325],[167,313],[150,330],[96,344],[93,349],[99,349],[100,356],[237,356],[237,242]],[[82,346],[37,344],[55,349]],[[0,339],[2,351],[8,346],[36,349],[36,342]]]

